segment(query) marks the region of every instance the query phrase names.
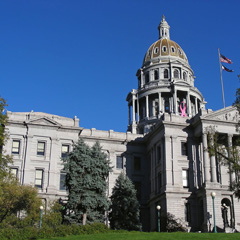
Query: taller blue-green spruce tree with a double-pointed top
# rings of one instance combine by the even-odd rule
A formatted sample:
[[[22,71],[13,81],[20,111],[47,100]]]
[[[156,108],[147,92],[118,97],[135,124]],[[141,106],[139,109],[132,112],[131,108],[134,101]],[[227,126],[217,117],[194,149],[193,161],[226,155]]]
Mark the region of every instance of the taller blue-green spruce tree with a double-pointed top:
[[[87,222],[103,222],[108,207],[106,179],[111,168],[99,143],[90,148],[80,138],[63,161],[69,191],[69,214],[65,219],[83,225]]]

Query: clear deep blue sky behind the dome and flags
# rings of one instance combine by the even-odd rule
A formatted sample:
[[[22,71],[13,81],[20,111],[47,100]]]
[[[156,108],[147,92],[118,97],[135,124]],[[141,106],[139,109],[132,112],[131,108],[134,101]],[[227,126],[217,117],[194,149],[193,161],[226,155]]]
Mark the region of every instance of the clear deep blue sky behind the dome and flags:
[[[162,14],[187,54],[207,108],[226,106],[240,74],[238,0],[0,0],[0,95],[8,110],[80,119],[80,126],[126,131],[126,96],[158,39]]]

